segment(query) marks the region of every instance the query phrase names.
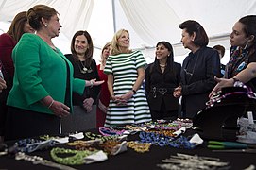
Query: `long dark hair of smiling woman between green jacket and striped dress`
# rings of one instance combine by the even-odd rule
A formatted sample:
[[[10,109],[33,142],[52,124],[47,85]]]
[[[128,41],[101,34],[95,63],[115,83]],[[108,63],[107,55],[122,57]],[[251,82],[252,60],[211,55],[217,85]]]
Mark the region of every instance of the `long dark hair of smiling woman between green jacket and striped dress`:
[[[75,44],[77,36],[80,36],[80,35],[84,35],[85,36],[85,38],[87,39],[88,45],[89,45],[89,48],[86,50],[86,52],[84,54],[84,57],[85,57],[85,65],[90,67],[92,59],[93,59],[94,44],[93,44],[93,40],[92,40],[90,34],[86,30],[85,31],[80,30],[80,31],[77,31],[75,33],[75,35],[73,36],[72,41],[71,41],[71,52],[72,52],[72,55],[76,59],[78,59],[77,58],[77,52],[76,52],[76,50],[74,48],[74,44]]]

